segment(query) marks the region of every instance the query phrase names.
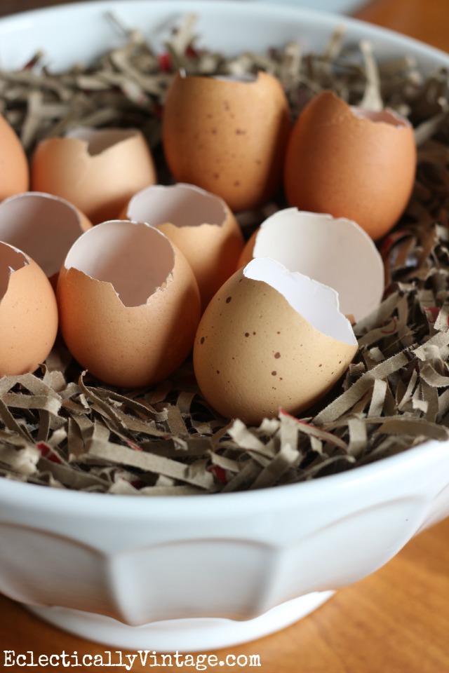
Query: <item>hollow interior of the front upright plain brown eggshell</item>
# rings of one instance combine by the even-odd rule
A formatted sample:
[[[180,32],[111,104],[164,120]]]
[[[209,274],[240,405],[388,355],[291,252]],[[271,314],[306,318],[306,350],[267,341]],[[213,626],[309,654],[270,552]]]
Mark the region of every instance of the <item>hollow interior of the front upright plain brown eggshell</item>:
[[[175,264],[173,247],[143,222],[111,220],[95,225],[72,245],[65,267],[111,283],[125,306],[141,306],[166,283]]]

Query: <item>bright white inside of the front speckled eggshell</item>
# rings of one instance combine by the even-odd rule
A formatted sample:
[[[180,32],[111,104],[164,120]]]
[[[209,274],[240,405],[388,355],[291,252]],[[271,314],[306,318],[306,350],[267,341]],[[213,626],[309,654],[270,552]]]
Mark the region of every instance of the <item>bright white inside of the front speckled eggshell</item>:
[[[344,344],[357,343],[351,323],[339,311],[338,295],[332,287],[318,283],[298,271],[288,271],[279,261],[269,257],[251,260],[243,269],[243,275],[273,287],[322,334]]]

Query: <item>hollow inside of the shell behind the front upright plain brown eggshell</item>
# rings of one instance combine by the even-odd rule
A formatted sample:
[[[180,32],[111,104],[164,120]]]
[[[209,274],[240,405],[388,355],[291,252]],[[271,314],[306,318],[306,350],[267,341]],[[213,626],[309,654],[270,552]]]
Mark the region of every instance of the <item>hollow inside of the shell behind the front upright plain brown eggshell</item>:
[[[128,204],[127,216],[152,226],[170,222],[174,226],[221,226],[227,217],[224,201],[193,184],[150,185],[136,193]]]

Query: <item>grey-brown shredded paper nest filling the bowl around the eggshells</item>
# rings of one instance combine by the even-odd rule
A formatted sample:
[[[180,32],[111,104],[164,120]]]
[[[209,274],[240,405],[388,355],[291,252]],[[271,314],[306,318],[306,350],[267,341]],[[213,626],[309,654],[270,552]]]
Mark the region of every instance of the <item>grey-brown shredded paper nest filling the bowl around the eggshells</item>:
[[[408,56],[376,62],[370,43],[348,46],[339,27],[323,53],[303,53],[298,36],[264,54],[229,57],[196,48],[192,16],[163,53],[118,17],[105,20],[121,27],[123,46],[98,62],[55,74],[42,51],[18,72],[0,71],[0,111],[27,151],[72,125],[138,125],[164,175],[160,121],[173,73],[263,69],[283,83],[293,118],[323,88],[408,116],[415,189],[380,244],[384,300],[354,325],[354,361],[307,416],[280,409],[257,428],[223,419],[201,398],[191,362],[152,390],[106,388],[58,342],[39,372],[0,379],[0,475],[109,494],[213,494],[310,480],[448,440],[448,73],[424,77]],[[242,214],[246,231],[276,207]]]

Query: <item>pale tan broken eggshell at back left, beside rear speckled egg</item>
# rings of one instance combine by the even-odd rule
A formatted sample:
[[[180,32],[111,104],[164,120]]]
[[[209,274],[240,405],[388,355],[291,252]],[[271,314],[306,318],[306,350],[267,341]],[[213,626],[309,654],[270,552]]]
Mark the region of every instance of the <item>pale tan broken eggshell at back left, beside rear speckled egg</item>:
[[[32,157],[32,190],[67,199],[93,224],[116,217],[133,193],[155,182],[147,141],[133,128],[74,128],[39,142]]]

